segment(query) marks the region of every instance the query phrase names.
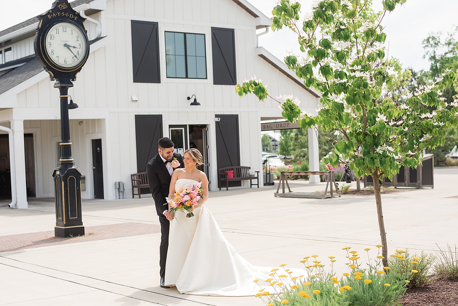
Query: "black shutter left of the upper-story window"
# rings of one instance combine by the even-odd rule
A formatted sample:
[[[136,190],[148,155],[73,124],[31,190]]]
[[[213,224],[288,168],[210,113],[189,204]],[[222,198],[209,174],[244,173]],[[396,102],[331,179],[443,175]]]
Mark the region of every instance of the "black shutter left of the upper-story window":
[[[134,82],[161,83],[158,22],[131,20]]]

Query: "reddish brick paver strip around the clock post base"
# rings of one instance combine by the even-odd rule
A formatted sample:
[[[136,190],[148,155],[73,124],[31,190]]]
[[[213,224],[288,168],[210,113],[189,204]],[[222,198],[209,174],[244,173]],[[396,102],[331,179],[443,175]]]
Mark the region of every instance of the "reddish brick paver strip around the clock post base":
[[[0,236],[0,252],[38,248],[49,245],[64,245],[102,239],[130,237],[144,234],[160,233],[159,225],[145,223],[117,223],[109,225],[88,226],[86,235],[78,237],[54,237],[54,231],[15,234]]]

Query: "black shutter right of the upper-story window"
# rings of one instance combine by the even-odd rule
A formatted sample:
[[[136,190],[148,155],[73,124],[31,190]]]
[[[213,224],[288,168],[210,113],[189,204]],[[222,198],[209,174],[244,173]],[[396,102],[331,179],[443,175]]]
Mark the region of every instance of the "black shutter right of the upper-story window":
[[[234,29],[212,28],[213,84],[235,85]]]

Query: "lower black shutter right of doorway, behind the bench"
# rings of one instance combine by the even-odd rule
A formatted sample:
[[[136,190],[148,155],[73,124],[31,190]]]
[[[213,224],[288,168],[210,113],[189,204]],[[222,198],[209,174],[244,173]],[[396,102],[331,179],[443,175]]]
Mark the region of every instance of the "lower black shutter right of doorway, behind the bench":
[[[217,167],[240,166],[239,115],[215,115]],[[218,182],[219,186],[219,182]],[[229,187],[241,186],[241,182],[229,182]]]

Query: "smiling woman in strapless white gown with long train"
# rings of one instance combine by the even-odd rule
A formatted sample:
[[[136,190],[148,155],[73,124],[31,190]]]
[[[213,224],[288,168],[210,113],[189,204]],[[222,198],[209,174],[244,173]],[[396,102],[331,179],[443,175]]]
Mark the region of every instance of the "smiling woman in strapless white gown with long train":
[[[204,202],[208,199],[208,180],[196,167],[202,154],[185,150],[185,168],[175,169],[169,195],[190,184],[202,182],[202,203],[194,206],[194,217],[178,211],[170,220],[169,250],[165,267],[165,284],[176,286],[181,294],[215,296],[256,295],[259,286],[253,280],[269,278],[271,268],[254,267],[235,252],[224,238]],[[170,210],[170,206],[169,206]]]

